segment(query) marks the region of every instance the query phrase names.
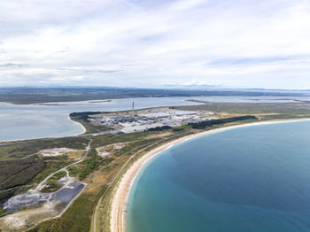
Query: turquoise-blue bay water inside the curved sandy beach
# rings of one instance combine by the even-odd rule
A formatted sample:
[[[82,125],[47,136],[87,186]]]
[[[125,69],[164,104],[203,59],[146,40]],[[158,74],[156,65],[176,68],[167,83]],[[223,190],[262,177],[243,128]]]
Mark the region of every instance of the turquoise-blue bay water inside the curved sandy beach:
[[[310,231],[310,121],[230,129],[163,151],[134,182],[127,228]]]

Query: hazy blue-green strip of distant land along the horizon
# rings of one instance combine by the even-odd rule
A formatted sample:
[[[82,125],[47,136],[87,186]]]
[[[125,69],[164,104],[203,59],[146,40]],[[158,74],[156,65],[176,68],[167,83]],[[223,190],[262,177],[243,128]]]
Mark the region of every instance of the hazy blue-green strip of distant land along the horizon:
[[[201,88],[201,86],[200,86]],[[108,87],[1,88],[0,102],[34,104],[133,97],[300,96],[303,93],[266,89],[135,89]]]

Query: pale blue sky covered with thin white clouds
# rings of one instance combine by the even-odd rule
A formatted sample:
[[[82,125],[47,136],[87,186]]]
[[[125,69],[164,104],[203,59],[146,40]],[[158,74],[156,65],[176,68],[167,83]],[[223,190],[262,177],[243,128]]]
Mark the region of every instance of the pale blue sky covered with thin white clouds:
[[[1,0],[18,85],[310,89],[310,0]]]

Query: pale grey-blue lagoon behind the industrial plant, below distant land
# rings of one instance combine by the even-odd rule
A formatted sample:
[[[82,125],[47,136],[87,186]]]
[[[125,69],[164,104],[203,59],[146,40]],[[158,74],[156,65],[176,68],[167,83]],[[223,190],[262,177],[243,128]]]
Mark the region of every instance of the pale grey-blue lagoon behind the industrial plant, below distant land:
[[[45,137],[63,137],[83,133],[79,123],[69,119],[71,112],[115,112],[136,109],[194,105],[195,99],[215,103],[294,103],[309,101],[310,97],[140,97],[48,104],[0,103],[0,142]]]

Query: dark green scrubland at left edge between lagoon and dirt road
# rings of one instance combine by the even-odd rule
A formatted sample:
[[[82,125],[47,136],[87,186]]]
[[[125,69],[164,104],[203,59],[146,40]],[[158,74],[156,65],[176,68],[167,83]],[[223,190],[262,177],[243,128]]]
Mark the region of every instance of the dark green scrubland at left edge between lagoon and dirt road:
[[[55,147],[83,150],[88,143],[89,139],[82,137],[0,143],[0,204],[75,160],[69,154],[41,157],[39,151]]]

